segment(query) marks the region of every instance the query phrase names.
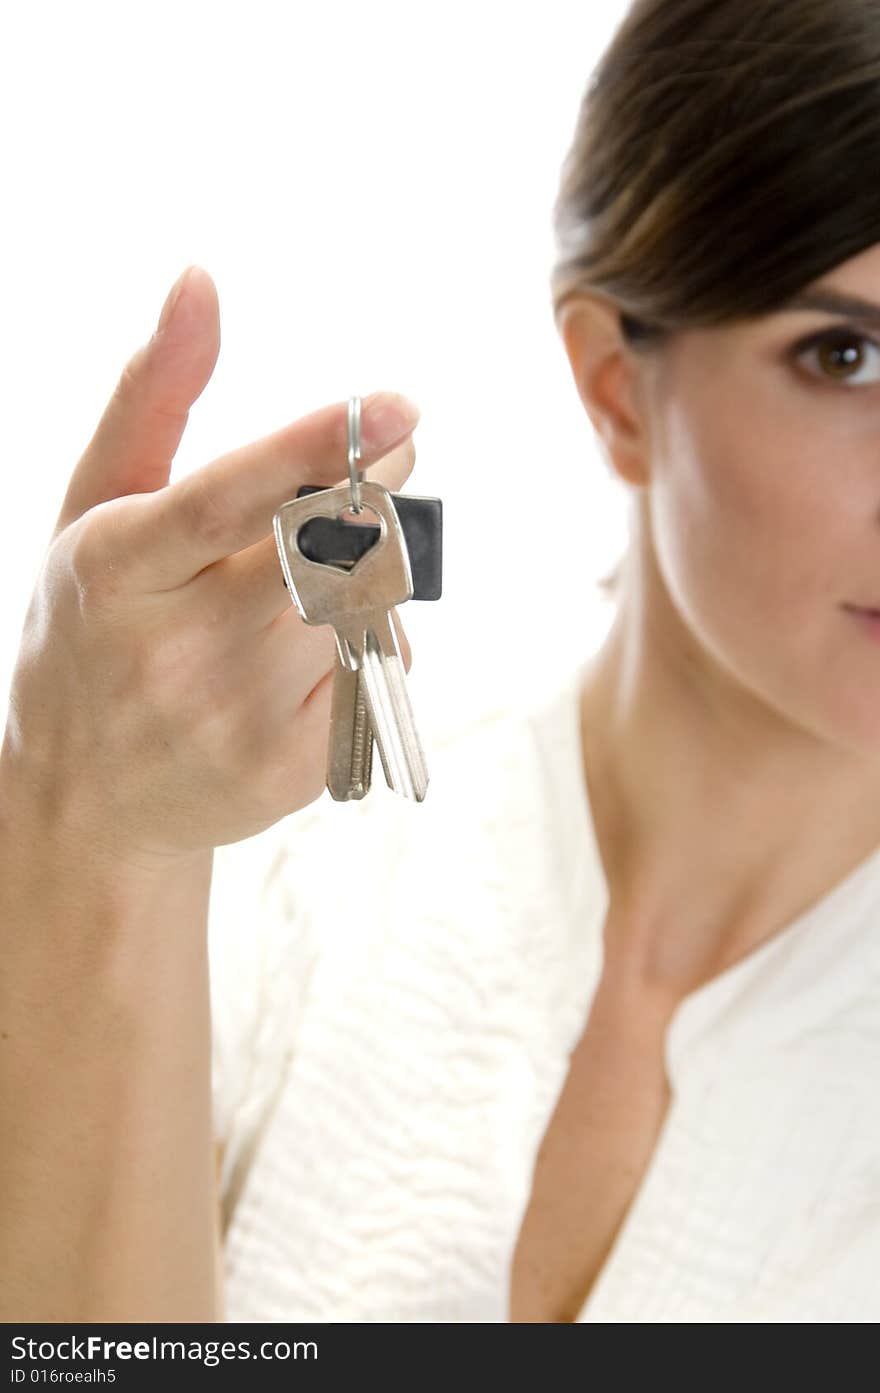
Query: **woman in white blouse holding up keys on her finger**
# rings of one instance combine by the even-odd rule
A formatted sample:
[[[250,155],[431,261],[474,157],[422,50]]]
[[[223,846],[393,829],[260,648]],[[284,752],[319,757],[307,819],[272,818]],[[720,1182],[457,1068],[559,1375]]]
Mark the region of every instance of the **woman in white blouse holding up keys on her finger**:
[[[840,312],[880,302],[879,96],[867,0],[627,14],[553,280],[631,490],[617,614],[563,691],[433,749],[418,809],[316,801],[333,652],[277,570],[270,593],[281,439],[195,485],[157,464],[213,368],[206,277],[128,371],[29,612],[0,786],[7,974],[56,1006],[7,1011],[31,1052],[3,1222],[31,1272],[74,1241],[68,1318],[205,1318],[214,1277],[228,1321],[880,1315],[880,311]],[[306,422],[287,449],[329,457],[344,408]],[[397,488],[394,439],[369,458],[394,446],[372,476]],[[50,645],[61,613],[77,642]]]

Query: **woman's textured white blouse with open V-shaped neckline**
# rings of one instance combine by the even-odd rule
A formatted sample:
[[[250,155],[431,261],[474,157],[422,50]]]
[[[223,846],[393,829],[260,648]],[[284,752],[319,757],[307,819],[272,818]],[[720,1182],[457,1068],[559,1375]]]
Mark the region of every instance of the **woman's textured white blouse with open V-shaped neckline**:
[[[422,804],[376,756],[361,802],[217,850],[227,1321],[508,1319],[602,970],[581,680],[429,744]],[[880,1319],[880,848],[685,997],[666,1061],[663,1131],[578,1319]]]

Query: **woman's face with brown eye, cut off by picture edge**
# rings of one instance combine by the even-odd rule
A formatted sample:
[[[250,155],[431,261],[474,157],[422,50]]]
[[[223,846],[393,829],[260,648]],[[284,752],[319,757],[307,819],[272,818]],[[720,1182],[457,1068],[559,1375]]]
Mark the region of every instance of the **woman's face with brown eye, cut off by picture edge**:
[[[819,287],[880,305],[880,244]],[[679,616],[787,722],[880,755],[880,621],[847,609],[880,610],[880,313],[688,330],[643,384],[643,501]]]

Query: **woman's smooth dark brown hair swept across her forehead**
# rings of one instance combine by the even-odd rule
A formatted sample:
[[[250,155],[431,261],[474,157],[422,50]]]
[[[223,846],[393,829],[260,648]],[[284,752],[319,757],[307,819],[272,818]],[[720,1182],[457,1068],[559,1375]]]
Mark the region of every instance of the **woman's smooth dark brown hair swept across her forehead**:
[[[879,176],[880,0],[634,0],[563,163],[554,315],[606,297],[650,352],[778,309],[880,241]]]

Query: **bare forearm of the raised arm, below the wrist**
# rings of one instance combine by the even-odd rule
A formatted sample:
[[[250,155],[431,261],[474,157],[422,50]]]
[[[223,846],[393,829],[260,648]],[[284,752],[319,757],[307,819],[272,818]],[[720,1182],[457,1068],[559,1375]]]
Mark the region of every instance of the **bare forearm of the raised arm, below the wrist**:
[[[0,794],[0,1321],[221,1319],[212,853],[120,873]]]

